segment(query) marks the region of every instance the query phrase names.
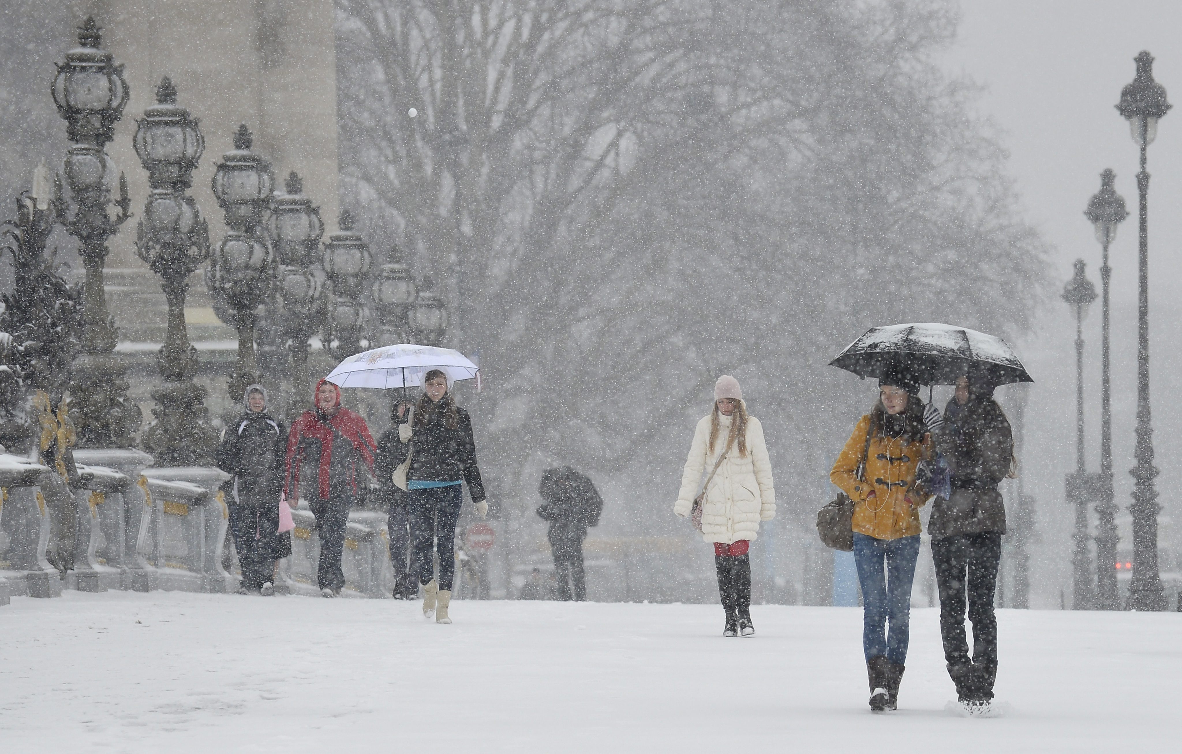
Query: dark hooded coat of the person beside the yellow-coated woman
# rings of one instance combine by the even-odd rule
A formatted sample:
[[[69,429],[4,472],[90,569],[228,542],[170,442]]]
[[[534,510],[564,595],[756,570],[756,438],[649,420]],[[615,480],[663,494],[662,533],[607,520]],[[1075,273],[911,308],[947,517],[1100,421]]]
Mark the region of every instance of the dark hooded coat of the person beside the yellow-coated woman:
[[[936,448],[952,469],[952,496],[936,498],[928,521],[933,539],[956,534],[1006,533],[1006,506],[998,485],[1009,473],[1014,440],[1009,421],[993,398],[953,398]]]

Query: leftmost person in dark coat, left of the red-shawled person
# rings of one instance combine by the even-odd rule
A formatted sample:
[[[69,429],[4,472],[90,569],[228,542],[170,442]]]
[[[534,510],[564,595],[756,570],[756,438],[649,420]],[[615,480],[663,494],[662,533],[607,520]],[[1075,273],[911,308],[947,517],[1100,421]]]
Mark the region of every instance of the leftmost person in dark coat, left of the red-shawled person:
[[[248,385],[242,403],[245,410],[222,434],[217,468],[230,475],[226,508],[242,568],[239,593],[269,597],[275,561],[291,553],[291,540],[278,533],[286,433],[267,412],[266,388]]]

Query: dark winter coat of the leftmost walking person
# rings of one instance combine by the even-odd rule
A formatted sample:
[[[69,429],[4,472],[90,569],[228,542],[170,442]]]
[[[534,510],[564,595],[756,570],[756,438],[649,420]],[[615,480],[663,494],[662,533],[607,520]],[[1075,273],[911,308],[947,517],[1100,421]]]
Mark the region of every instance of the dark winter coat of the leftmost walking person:
[[[245,411],[226,428],[217,468],[230,474],[230,499],[249,506],[279,505],[287,433],[269,414]]]

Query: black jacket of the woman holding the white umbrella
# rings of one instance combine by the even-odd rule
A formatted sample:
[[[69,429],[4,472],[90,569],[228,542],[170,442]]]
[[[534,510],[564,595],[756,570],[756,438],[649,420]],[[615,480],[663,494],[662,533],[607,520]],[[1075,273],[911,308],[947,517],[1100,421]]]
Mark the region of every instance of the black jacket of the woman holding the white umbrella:
[[[476,441],[472,435],[472,417],[460,407],[455,407],[455,411],[459,421],[454,428],[447,425],[447,410],[431,411],[426,425],[416,411],[411,424],[414,436],[409,444],[413,450],[407,480],[423,482],[463,480],[468,485],[472,501],[480,502],[485,499],[485,485],[476,466]],[[394,431],[397,431],[397,428]],[[391,460],[396,460],[390,467],[391,472],[407,459],[405,453],[407,446],[402,444],[398,454],[390,455]]]

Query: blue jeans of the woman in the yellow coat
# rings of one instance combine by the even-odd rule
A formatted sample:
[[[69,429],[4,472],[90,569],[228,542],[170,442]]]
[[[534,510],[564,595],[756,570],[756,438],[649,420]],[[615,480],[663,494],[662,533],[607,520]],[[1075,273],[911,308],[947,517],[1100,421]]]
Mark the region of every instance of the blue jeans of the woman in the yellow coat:
[[[911,581],[920,535],[875,539],[853,533],[853,564],[862,586],[862,649],[866,661],[885,655],[902,665],[910,638]],[[888,630],[888,623],[890,628]]]

